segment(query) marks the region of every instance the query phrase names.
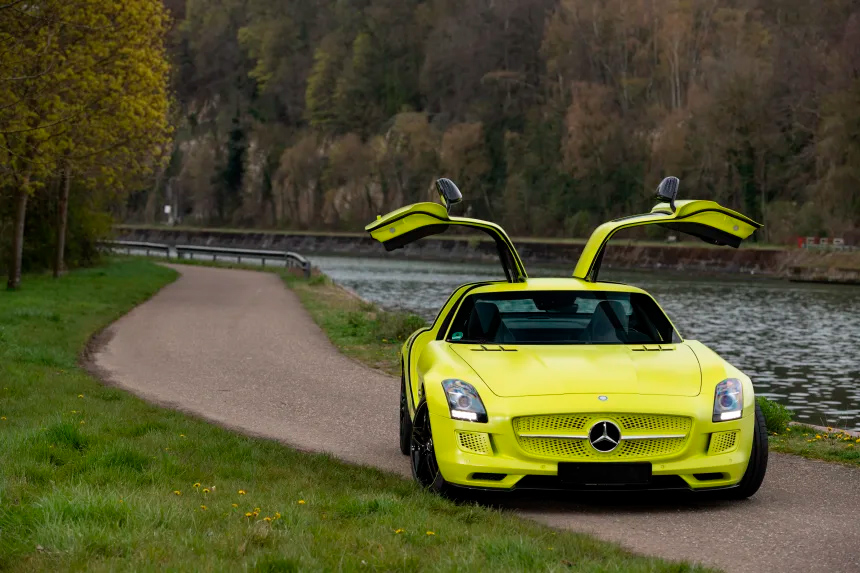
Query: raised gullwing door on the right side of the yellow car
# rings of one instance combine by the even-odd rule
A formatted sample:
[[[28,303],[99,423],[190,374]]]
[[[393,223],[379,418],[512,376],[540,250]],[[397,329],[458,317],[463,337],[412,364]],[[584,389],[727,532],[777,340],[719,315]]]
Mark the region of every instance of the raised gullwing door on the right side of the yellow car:
[[[622,217],[597,227],[589,237],[573,276],[591,282],[597,280],[606,243],[616,232],[641,225],[660,225],[673,231],[698,237],[713,245],[738,248],[741,242],[762,227],[737,211],[722,207],[714,201],[675,201],[679,181],[667,177],[657,188],[658,203],[650,213]]]

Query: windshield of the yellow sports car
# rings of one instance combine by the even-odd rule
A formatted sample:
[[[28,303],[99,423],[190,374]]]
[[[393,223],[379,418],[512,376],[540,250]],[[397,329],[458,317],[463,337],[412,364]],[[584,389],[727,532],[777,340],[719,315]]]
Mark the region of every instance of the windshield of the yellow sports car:
[[[680,338],[646,294],[531,291],[467,296],[451,324],[448,341],[659,344],[680,342]]]

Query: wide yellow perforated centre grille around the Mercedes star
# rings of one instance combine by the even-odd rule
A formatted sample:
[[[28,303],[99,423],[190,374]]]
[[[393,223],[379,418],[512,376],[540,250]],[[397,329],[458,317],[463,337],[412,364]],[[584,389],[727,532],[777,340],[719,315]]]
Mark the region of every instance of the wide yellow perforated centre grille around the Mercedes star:
[[[588,430],[601,420],[615,422],[621,429],[621,443],[608,453],[596,451],[586,439]],[[515,418],[513,425],[520,447],[536,457],[556,460],[629,460],[670,456],[680,452],[687,442],[692,420],[684,416],[658,414],[556,414]],[[541,435],[530,437],[524,434]],[[644,437],[648,435],[655,437]],[[642,438],[624,439],[638,436]]]

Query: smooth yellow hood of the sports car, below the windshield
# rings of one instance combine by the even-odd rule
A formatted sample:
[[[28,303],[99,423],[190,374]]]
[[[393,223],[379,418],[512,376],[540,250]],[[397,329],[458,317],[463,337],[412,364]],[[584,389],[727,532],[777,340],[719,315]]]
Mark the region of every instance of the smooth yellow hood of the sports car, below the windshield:
[[[553,394],[698,396],[702,388],[699,362],[684,344],[662,347],[451,344],[451,347],[494,394],[503,397]]]

